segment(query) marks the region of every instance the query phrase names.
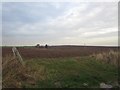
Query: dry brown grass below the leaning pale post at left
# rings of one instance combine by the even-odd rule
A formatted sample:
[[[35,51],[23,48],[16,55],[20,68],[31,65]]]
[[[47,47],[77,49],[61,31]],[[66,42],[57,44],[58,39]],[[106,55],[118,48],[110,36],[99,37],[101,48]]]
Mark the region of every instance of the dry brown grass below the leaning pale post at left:
[[[7,55],[2,59],[2,85],[3,88],[21,88],[23,84],[34,84],[34,78],[28,74],[29,69],[13,56]]]

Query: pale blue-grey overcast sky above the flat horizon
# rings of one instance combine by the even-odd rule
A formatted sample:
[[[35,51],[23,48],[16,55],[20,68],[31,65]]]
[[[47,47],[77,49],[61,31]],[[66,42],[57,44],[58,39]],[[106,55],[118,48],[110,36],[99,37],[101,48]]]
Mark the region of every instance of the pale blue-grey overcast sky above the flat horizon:
[[[2,3],[3,45],[117,45],[118,3]]]

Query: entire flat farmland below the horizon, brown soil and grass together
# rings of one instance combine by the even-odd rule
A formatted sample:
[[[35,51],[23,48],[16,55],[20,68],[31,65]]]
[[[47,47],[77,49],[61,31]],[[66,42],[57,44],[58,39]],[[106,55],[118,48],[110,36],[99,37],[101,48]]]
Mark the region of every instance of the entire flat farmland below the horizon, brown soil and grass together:
[[[24,67],[13,57],[12,47],[2,47],[4,88],[99,88],[101,83],[118,87],[117,47],[21,46],[17,49]]]

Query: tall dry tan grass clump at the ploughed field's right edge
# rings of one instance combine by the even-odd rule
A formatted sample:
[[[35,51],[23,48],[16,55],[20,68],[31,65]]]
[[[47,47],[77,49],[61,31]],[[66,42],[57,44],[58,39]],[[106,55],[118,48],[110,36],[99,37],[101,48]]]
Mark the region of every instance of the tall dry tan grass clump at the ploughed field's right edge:
[[[91,55],[92,57],[95,57],[96,60],[101,60],[105,63],[109,63],[112,65],[118,65],[118,57],[120,56],[120,52],[119,51],[113,51],[110,50],[109,52],[102,52],[99,54],[93,54]]]

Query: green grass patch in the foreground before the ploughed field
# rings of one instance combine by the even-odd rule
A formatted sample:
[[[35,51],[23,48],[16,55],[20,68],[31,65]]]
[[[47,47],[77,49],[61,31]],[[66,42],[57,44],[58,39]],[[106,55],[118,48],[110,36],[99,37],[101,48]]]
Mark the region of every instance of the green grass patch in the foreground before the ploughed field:
[[[101,82],[113,84],[117,67],[90,57],[43,58],[26,60],[36,78],[33,88],[99,87]],[[84,85],[87,84],[87,85]]]

